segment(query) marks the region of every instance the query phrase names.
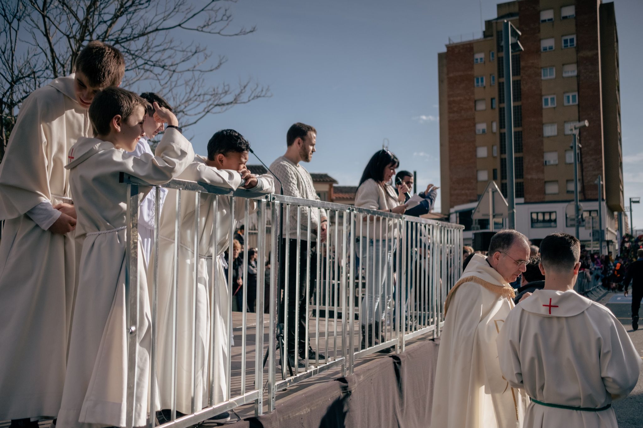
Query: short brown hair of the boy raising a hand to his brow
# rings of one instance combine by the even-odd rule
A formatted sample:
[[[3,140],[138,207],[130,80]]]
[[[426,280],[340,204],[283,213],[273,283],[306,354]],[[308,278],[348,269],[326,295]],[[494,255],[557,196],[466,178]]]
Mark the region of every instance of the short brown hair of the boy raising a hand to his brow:
[[[147,104],[145,99],[127,89],[111,86],[101,90],[89,106],[89,121],[94,135],[107,135],[114,116],[118,114],[126,121],[137,106],[147,108]]]

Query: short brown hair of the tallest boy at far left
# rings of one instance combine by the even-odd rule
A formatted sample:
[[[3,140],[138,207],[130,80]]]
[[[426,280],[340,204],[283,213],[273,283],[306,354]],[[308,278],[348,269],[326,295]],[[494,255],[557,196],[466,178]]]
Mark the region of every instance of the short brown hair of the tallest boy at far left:
[[[125,58],[116,47],[92,40],[78,53],[74,67],[95,88],[117,86],[125,75]]]

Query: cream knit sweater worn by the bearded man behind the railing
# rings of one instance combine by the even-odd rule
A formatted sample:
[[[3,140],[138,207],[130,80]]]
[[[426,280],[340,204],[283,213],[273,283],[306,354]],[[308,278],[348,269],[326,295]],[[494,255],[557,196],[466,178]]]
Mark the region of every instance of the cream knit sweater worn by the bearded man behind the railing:
[[[306,169],[299,165],[293,164],[284,156],[275,159],[270,166],[271,171],[275,173],[276,178],[281,180],[284,189],[284,196],[293,196],[294,198],[302,198],[319,201],[314,185],[312,184],[312,177]],[[275,178],[275,193],[279,194],[281,185]],[[284,229],[286,231],[285,221],[285,207],[284,207]],[[300,212],[301,235],[300,237],[305,241],[307,237],[308,216],[311,216],[311,241],[316,241],[316,228],[319,225],[320,218],[317,216],[317,209],[310,209],[309,207],[302,207]],[[320,210],[320,217],[326,217],[326,210]],[[296,239],[297,237],[297,207],[291,205],[290,207],[290,237]]]

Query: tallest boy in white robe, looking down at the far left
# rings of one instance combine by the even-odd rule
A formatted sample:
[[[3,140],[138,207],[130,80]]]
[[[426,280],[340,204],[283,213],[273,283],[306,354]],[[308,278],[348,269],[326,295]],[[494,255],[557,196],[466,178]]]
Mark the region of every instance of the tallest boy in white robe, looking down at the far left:
[[[118,49],[89,42],[75,74],[25,99],[0,164],[0,420],[12,428],[60,409],[80,256],[64,166],[91,135],[95,92],[120,84],[124,71]]]

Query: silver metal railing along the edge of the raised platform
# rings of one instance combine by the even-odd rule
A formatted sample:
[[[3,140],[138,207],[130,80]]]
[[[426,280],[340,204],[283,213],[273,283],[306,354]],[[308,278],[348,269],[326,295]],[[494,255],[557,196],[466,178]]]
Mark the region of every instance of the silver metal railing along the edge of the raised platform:
[[[174,236],[161,236],[161,239],[174,242],[170,290],[173,297],[170,298],[171,309],[165,308],[165,316],[172,320],[172,328],[165,332],[169,337],[163,337],[171,341],[172,347],[170,352],[167,347],[164,347],[165,351],[158,348],[158,317],[159,311],[163,311],[158,307],[159,228],[167,231],[168,225],[163,222],[165,214],[161,217],[157,212],[155,245],[150,258],[154,263],[147,271],[151,314],[149,355],[137,355],[140,334],[134,332],[139,327],[139,312],[146,309],[139,307],[138,293],[148,292],[147,284],[140,284],[138,272],[141,266],[138,261],[138,204],[140,187],[149,184],[125,174],[121,181],[129,188],[130,195],[125,286],[129,320],[128,427],[134,420],[135,409],[141,411],[146,408],[151,428],[187,427],[252,402],[255,414],[261,415],[266,388],[267,411],[272,411],[275,409],[276,391],[280,389],[328,370],[341,368],[341,373],[347,375],[353,372],[355,361],[360,357],[387,349],[389,352],[403,352],[406,342],[412,338],[426,333],[431,333],[430,337],[439,335],[444,300],[462,273],[461,225],[408,218],[349,205],[244,190],[231,191],[203,183],[172,180],[161,186],[170,189],[169,192],[176,192],[174,207],[167,204],[168,200],[172,200],[168,193],[163,208],[164,213],[174,210],[174,216],[167,213],[168,218],[174,219],[171,225]],[[152,192],[158,207],[159,187],[152,187]],[[189,209],[194,207],[195,212],[189,216],[190,221],[181,224],[181,212],[185,213],[188,203]],[[185,204],[183,208],[182,204]],[[223,302],[225,298],[219,298],[226,296],[226,293],[231,298],[233,252],[228,252],[227,264],[230,268],[226,283],[222,284],[220,277],[217,277],[217,269],[223,263],[221,253],[225,248],[232,248],[235,221],[222,221],[216,215],[222,207],[226,215],[236,216],[235,219],[245,224],[248,224],[250,216],[257,216],[255,324],[249,322],[247,313],[250,287],[246,274],[248,259],[244,257],[240,289],[243,303],[240,326],[236,328],[239,330],[240,327],[241,330],[241,352],[237,355],[240,361],[235,361],[234,371],[230,301]],[[212,210],[214,215],[208,219],[200,215],[200,210]],[[317,227],[324,212],[328,221],[325,236]],[[185,241],[185,236],[189,237],[188,241]],[[247,251],[247,240],[244,246]],[[181,259],[179,252],[186,252],[194,260],[190,258],[185,261],[185,255]],[[205,265],[201,258],[208,257],[212,266],[202,271]],[[269,299],[267,343],[263,313],[265,261],[271,264],[269,295],[265,296]],[[181,262],[189,266],[180,266]],[[168,266],[162,268],[167,271]],[[181,283],[181,269],[190,270],[190,284]],[[207,298],[201,296],[203,302],[197,302],[197,289],[207,291]],[[191,296],[189,308],[177,305],[181,293]],[[201,305],[205,300],[209,305],[209,321]],[[291,316],[287,315],[289,310],[293,312],[293,306],[294,316],[292,313]],[[199,320],[202,320],[201,324]],[[188,350],[177,349],[179,340],[185,343],[185,338],[181,337],[184,330],[179,329],[180,322],[192,327],[188,329],[192,335],[187,342],[192,347]],[[197,325],[201,326],[199,329],[206,339],[199,341],[201,336],[196,332]],[[160,334],[163,333],[161,330]],[[254,343],[249,341],[252,336]],[[200,366],[197,366],[198,358],[195,355],[201,355],[197,352],[199,346],[204,355],[199,360]],[[182,413],[177,410],[177,394],[181,393],[177,391],[177,377],[186,378],[188,375],[179,373],[179,351],[188,352],[192,358],[192,361],[188,360],[188,370],[185,366],[181,367],[189,375],[181,381],[188,382],[191,387],[190,406],[187,411],[184,408]],[[164,361],[172,362],[171,373],[159,373],[159,352],[171,354],[160,355]],[[262,358],[264,352],[266,355]],[[314,352],[314,355],[310,352]],[[290,361],[286,355],[293,355],[294,361]],[[136,379],[141,379],[141,373],[137,373],[137,363],[147,356],[150,362],[150,394],[149,402],[145,405],[134,402],[134,391],[137,388]],[[320,356],[325,359],[320,359]],[[301,369],[300,360],[303,363]],[[266,361],[267,373],[264,370]],[[217,370],[221,372],[221,368],[224,368],[224,379],[217,378],[215,381],[215,373]],[[160,375],[170,376],[171,388],[159,389],[157,379]],[[217,386],[225,389],[222,398],[215,394]],[[199,390],[203,393],[199,393]],[[159,401],[159,397],[163,400]],[[188,400],[188,397],[183,398],[183,401]],[[159,402],[170,403],[170,408]],[[169,411],[169,422],[157,422],[155,416],[161,409]]]

